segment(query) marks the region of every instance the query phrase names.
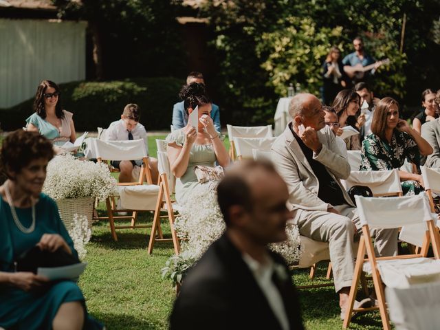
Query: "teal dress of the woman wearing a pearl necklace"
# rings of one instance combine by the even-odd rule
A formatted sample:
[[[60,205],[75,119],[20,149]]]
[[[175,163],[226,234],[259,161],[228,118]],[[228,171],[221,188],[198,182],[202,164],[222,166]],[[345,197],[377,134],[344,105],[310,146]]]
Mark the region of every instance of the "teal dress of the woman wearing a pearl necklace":
[[[31,208],[16,208],[20,222],[29,228]],[[58,214],[53,199],[41,194],[35,206],[35,230],[24,234],[17,228],[8,203],[0,197],[0,271],[14,272],[14,260],[39,243],[45,233],[60,234],[73,253],[74,243]],[[9,329],[52,329],[52,322],[63,303],[80,301],[86,314],[85,329],[101,329],[96,320],[87,316],[84,296],[73,281],[61,281],[43,292],[24,292],[17,287],[0,286],[0,327]]]

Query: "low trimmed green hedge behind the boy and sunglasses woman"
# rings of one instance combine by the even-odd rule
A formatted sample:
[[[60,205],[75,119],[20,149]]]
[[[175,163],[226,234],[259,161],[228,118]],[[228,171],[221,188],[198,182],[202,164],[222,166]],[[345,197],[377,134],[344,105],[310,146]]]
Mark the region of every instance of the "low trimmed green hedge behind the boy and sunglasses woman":
[[[76,131],[107,128],[120,119],[125,105],[137,103],[142,112],[140,122],[148,130],[169,129],[173,104],[184,80],[177,78],[133,78],[113,81],[79,81],[61,84],[63,109],[74,113]],[[25,126],[32,114],[34,98],[9,109],[0,109],[1,128],[12,131]]]

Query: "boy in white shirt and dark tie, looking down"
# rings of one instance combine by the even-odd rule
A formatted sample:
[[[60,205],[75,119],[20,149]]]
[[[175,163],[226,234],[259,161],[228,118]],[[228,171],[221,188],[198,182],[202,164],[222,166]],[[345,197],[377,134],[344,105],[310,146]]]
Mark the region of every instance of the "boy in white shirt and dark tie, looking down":
[[[147,137],[144,125],[140,124],[140,108],[137,104],[129,103],[124,107],[121,119],[112,122],[105,133],[107,141],[126,141],[126,140],[144,140],[148,153]],[[142,166],[142,159],[136,160],[112,160],[110,163],[115,168],[120,169],[119,181],[132,181],[131,172],[134,166]],[[157,159],[148,157],[148,167],[151,171],[153,183],[157,182],[159,172],[157,170]]]

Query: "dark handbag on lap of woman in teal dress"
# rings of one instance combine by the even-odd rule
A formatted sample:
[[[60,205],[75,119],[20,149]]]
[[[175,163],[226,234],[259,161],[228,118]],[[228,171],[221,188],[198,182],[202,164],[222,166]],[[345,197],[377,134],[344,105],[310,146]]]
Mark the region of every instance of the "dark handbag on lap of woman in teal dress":
[[[34,246],[28,251],[23,252],[16,261],[17,272],[32,272],[36,274],[39,267],[62,267],[80,263],[79,259],[73,254],[67,253],[63,248],[58,248],[54,252],[41,250],[39,246]]]

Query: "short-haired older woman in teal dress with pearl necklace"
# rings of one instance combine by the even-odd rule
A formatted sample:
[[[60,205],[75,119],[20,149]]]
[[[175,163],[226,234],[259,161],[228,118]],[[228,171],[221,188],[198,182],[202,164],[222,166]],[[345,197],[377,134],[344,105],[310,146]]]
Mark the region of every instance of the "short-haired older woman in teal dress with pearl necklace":
[[[55,201],[41,193],[53,156],[52,144],[39,133],[14,131],[3,141],[8,180],[0,186],[0,328],[102,329],[87,315],[76,283],[15,271],[15,261],[34,246],[77,256]]]

